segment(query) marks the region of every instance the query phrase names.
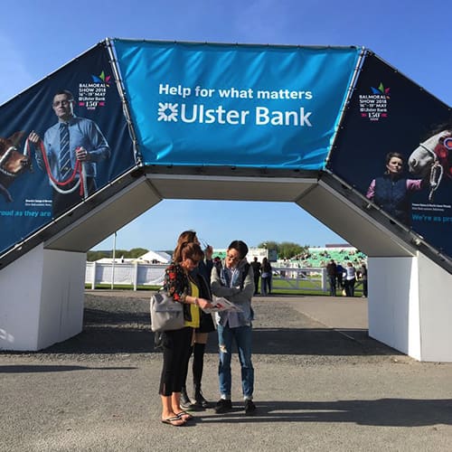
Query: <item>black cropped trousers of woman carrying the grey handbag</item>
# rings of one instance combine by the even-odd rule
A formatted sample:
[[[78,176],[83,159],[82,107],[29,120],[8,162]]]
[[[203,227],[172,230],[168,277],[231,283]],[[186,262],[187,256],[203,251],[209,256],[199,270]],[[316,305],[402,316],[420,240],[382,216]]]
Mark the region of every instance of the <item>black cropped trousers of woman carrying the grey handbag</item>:
[[[193,328],[186,326],[181,330],[165,331],[162,337],[164,347],[164,367],[160,377],[158,393],[170,396],[180,392],[184,384],[184,367],[190,353]]]

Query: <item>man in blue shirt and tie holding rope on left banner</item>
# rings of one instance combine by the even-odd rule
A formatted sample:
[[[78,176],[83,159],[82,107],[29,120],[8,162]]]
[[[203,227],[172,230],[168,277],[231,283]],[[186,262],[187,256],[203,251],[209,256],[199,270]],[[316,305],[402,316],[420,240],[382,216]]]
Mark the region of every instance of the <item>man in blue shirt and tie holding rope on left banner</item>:
[[[28,137],[53,188],[54,217],[97,190],[97,164],[111,154],[96,123],[74,115],[74,103],[71,91],[56,92],[52,108],[58,123],[47,129],[43,140],[34,131]]]

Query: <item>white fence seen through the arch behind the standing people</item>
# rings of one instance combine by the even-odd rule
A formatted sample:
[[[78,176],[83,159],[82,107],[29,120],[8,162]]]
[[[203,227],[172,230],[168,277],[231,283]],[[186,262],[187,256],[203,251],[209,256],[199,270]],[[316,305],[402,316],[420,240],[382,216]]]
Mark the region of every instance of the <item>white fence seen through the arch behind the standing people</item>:
[[[96,285],[160,286],[164,281],[165,265],[139,263],[87,262],[85,284]],[[273,287],[286,290],[322,290],[328,292],[325,268],[273,268]],[[278,284],[278,281],[285,281]]]

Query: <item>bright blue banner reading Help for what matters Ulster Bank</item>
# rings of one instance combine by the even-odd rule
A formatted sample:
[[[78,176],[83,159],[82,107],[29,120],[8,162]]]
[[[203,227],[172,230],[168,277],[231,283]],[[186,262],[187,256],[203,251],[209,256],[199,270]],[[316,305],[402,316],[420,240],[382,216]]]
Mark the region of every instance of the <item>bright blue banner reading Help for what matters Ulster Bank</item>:
[[[114,40],[146,165],[323,169],[361,50]]]

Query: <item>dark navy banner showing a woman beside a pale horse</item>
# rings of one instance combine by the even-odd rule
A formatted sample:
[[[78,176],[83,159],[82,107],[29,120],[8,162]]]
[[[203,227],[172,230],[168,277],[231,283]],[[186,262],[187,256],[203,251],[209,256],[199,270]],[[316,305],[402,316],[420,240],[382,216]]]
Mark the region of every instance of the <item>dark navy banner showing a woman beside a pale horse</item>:
[[[452,256],[451,109],[366,57],[327,167]]]

